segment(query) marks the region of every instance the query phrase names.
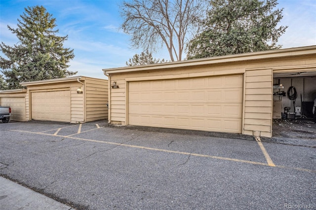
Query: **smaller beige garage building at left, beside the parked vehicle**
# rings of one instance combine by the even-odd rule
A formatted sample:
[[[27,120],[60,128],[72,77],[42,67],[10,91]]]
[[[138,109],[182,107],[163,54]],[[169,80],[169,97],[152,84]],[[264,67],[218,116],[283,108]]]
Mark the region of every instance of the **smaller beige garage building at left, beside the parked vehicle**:
[[[108,80],[74,76],[32,82],[22,82],[27,89],[0,91],[1,105],[10,105],[12,120],[45,120],[70,123],[89,122],[108,118]],[[24,101],[23,101],[23,100]]]

